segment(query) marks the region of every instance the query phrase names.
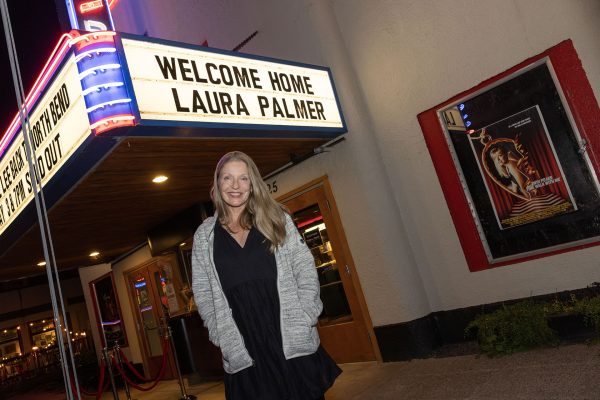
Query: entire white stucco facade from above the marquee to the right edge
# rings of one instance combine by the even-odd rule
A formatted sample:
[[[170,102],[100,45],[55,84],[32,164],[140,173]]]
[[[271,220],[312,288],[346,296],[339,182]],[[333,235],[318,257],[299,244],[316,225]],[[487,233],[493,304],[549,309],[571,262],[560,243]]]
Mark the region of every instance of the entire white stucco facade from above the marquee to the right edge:
[[[273,179],[282,194],[330,177],[375,326],[600,280],[600,247],[469,272],[416,119],[567,38],[598,97],[597,0],[140,4],[119,3],[117,29],[224,49],[258,31],[244,52],[332,69],[346,140]]]

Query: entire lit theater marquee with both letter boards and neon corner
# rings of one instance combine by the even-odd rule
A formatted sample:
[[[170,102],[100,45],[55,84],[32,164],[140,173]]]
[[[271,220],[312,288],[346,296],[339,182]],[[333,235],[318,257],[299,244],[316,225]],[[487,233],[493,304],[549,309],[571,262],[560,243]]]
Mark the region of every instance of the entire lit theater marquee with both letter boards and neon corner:
[[[100,4],[107,2],[71,3],[90,15]],[[27,229],[15,223],[19,215],[34,219],[33,179],[52,207],[119,137],[170,137],[181,128],[188,137],[328,139],[346,132],[327,68],[112,31],[63,35],[25,103],[35,172],[15,116],[0,136],[0,235],[6,238],[0,254]],[[61,169],[68,169],[68,179],[57,177]],[[10,240],[9,226],[18,227]]]

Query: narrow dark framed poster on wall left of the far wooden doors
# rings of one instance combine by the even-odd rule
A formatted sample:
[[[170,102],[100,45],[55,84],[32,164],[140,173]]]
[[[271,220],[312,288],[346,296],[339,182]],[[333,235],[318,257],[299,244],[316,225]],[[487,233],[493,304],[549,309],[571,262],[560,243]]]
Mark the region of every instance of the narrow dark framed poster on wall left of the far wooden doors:
[[[121,318],[113,273],[109,272],[90,282],[90,292],[94,300],[102,346],[113,347],[117,343],[121,347],[127,346],[125,324]]]

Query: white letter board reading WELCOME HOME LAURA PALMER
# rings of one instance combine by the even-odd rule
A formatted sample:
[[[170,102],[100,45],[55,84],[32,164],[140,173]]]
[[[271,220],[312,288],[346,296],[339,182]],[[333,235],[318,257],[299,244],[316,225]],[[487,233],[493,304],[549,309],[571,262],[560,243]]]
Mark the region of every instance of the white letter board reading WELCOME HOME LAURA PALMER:
[[[122,43],[141,124],[345,128],[325,68],[127,38]]]

